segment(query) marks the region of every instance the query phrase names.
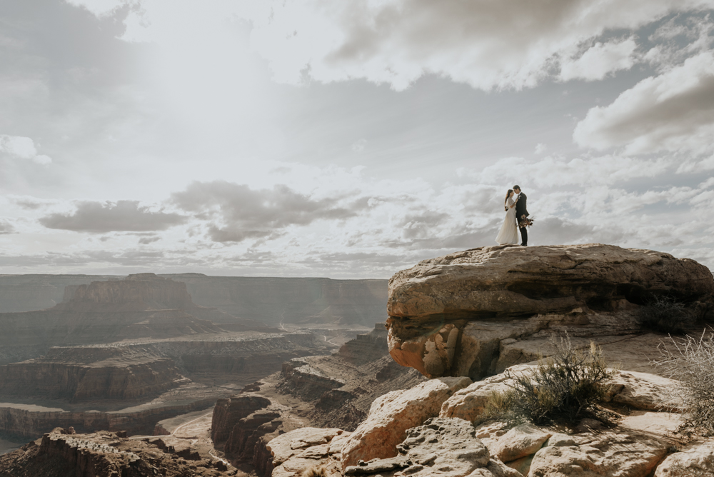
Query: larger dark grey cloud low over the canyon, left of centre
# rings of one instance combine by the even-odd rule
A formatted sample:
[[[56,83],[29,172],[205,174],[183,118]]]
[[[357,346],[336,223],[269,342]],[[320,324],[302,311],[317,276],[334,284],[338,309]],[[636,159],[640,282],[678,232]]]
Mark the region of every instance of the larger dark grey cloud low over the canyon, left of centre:
[[[319,219],[348,219],[366,206],[336,206],[338,199],[313,199],[284,185],[253,190],[226,181],[195,181],[185,191],[171,194],[171,201],[198,219],[208,220],[208,236],[216,242],[277,236],[280,229]]]

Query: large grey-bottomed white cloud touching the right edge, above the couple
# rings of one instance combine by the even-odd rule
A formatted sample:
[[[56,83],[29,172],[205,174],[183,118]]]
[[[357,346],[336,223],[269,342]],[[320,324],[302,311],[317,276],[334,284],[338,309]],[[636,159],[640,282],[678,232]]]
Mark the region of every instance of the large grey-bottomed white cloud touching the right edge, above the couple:
[[[705,51],[684,64],[635,84],[608,106],[596,106],[575,126],[583,147],[624,147],[628,154],[713,149],[714,55]]]

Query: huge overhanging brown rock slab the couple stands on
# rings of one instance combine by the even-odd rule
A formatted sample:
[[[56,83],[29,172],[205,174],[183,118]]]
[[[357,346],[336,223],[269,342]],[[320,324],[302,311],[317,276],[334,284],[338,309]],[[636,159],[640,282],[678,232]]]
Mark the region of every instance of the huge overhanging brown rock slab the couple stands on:
[[[428,377],[479,379],[519,362],[521,351],[508,345],[543,338],[546,331],[636,333],[637,310],[653,296],[669,296],[700,317],[714,303],[714,279],[693,260],[648,250],[601,244],[474,248],[422,261],[391,278],[389,351]],[[502,351],[511,362],[499,362]]]

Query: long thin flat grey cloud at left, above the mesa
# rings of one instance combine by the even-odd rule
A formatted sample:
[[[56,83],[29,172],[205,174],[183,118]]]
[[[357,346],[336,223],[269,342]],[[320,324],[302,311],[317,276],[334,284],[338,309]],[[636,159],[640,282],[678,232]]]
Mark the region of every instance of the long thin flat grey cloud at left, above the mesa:
[[[149,206],[139,206],[139,201],[93,202],[77,204],[72,214],[49,214],[39,223],[48,229],[71,230],[104,234],[111,231],[156,231],[185,224],[187,218],[164,211],[151,211]]]

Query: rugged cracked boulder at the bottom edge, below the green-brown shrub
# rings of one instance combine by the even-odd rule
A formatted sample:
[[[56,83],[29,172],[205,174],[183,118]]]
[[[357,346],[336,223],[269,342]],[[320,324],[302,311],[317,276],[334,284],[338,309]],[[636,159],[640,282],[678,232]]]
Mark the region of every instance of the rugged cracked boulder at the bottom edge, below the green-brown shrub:
[[[645,477],[667,453],[668,443],[641,433],[598,431],[578,446],[547,446],[533,456],[528,477]]]

